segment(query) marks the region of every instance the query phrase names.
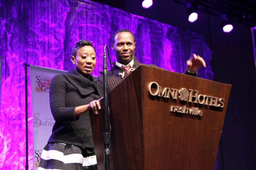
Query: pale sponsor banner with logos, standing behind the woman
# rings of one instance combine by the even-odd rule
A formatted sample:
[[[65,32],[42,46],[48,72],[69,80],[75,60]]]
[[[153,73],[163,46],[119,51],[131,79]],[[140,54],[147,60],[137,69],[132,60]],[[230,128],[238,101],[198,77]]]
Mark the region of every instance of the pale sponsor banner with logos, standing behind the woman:
[[[37,170],[41,153],[55,123],[49,104],[50,83],[56,74],[66,71],[30,65],[29,72],[33,108],[33,164],[34,170]]]

